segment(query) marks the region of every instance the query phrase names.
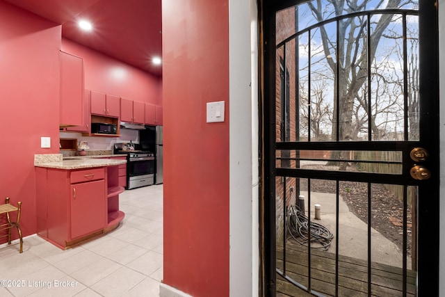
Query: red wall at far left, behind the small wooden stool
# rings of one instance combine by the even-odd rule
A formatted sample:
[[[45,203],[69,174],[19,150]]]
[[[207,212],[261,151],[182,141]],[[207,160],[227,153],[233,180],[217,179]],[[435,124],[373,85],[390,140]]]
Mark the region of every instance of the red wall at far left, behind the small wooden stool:
[[[35,233],[34,154],[58,153],[60,33],[0,0],[0,202],[22,201],[24,236]],[[51,137],[50,149],[40,148],[41,136]]]

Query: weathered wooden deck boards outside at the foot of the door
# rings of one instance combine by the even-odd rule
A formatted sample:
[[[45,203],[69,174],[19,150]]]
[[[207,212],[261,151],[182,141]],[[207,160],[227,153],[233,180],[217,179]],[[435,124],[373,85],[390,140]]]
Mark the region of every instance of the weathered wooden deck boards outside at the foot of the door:
[[[283,248],[277,247],[277,268],[283,268]],[[286,243],[286,275],[308,285],[307,247],[289,241]],[[319,250],[311,251],[311,287],[325,294],[335,295],[335,255]],[[280,282],[278,281],[280,280]],[[407,271],[407,296],[414,296],[416,273]],[[277,276],[277,292],[283,296],[296,296],[289,291],[297,288],[281,276]],[[372,296],[401,296],[403,289],[402,268],[385,264],[371,264]],[[300,294],[300,293],[298,293]],[[298,295],[300,296],[300,295]],[[368,262],[352,257],[339,256],[339,296],[368,296]]]

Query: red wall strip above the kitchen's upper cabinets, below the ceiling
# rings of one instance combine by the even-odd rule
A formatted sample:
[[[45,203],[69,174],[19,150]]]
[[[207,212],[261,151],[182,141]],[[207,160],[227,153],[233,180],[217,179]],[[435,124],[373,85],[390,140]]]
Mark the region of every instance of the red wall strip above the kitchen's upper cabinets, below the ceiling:
[[[162,79],[66,38],[62,50],[83,58],[85,88],[162,106]]]

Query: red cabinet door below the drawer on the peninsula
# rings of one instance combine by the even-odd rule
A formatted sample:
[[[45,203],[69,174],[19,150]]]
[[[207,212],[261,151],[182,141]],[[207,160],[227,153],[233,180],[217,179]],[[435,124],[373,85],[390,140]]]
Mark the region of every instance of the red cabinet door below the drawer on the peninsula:
[[[105,227],[105,182],[84,182],[71,185],[71,239]]]

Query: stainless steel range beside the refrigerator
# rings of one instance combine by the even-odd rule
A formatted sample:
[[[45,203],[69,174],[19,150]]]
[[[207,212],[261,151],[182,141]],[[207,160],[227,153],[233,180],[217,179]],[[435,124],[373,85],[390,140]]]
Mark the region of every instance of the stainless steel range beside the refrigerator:
[[[139,188],[154,184],[155,158],[154,153],[138,150],[138,144],[134,144],[131,150],[124,143],[115,143],[115,154],[127,155],[127,188]]]

